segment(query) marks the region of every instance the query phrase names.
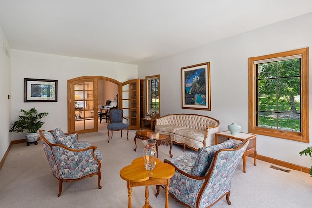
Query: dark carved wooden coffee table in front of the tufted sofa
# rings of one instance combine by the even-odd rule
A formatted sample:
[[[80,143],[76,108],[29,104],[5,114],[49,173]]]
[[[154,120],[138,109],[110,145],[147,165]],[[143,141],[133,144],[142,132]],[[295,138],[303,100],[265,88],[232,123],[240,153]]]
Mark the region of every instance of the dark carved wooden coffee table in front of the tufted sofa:
[[[170,135],[165,135],[165,134],[159,134],[156,132],[152,131],[137,131],[136,136],[135,136],[135,144],[136,148],[134,151],[137,150],[137,139],[146,140],[146,139],[155,139],[156,140],[156,151],[157,151],[157,158],[158,158],[158,146],[159,145],[169,145],[170,144],[170,149],[169,149],[169,156],[172,158],[171,154],[171,149],[172,149],[172,141],[170,138]]]

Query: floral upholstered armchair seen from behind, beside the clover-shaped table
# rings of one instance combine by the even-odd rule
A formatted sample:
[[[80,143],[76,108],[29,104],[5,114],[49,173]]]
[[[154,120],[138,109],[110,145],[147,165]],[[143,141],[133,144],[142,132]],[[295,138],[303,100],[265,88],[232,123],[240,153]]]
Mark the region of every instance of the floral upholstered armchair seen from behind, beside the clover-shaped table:
[[[249,141],[235,145],[232,140],[203,147],[198,155],[188,153],[164,160],[176,169],[169,194],[189,208],[207,208],[226,196],[230,205],[231,179]],[[159,185],[156,186],[159,194]]]

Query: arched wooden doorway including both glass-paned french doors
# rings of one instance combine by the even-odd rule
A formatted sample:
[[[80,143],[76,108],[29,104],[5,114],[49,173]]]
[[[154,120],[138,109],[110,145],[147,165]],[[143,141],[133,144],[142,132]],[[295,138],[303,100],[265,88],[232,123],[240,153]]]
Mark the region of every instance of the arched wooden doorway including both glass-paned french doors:
[[[68,132],[98,132],[99,107],[105,105],[106,100],[116,100],[117,94],[117,108],[123,109],[129,129],[139,129],[139,82],[139,79],[134,79],[121,83],[104,76],[81,76],[67,80]]]

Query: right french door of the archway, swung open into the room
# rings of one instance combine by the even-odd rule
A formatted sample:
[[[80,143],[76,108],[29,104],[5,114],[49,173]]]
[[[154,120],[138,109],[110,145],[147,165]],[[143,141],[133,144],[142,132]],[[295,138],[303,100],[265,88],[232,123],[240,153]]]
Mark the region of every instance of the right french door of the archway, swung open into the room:
[[[123,116],[128,118],[129,129],[140,129],[140,79],[122,83],[119,88],[120,106]]]

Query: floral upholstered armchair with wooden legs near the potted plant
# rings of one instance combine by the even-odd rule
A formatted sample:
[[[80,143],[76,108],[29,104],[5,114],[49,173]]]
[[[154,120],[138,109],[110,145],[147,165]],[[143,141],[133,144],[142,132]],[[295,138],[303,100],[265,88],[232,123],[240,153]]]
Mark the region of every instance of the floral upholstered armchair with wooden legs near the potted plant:
[[[102,153],[88,141],[78,141],[78,134],[65,134],[60,128],[54,131],[39,130],[42,147],[47,156],[53,176],[59,180],[59,194],[63,181],[81,180],[98,175],[101,189]]]

